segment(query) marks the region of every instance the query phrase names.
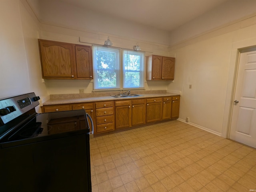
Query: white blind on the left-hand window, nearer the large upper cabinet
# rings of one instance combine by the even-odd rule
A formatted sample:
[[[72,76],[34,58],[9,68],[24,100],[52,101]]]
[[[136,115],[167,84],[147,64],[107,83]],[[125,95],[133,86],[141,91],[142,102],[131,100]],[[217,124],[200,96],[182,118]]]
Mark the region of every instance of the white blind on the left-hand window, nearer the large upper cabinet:
[[[92,46],[94,90],[120,89],[120,49]]]

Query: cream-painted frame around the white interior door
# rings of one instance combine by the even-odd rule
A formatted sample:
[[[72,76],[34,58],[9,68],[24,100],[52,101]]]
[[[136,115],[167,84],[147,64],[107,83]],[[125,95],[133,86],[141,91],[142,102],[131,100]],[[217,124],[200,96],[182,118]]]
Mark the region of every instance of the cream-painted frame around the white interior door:
[[[234,106],[234,96],[236,89],[236,80],[238,75],[238,66],[240,60],[240,54],[246,49],[256,48],[256,38],[246,39],[232,44],[230,66],[228,74],[228,84],[226,91],[226,100],[224,107],[224,116],[222,121],[222,133],[221,136],[224,138],[229,138],[230,127],[231,127],[231,117]]]

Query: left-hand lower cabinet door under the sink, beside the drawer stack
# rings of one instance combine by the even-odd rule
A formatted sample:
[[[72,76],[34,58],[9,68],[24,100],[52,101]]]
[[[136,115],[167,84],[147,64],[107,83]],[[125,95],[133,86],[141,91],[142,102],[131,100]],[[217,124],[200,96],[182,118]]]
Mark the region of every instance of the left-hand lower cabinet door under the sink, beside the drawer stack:
[[[116,107],[116,129],[132,126],[132,108],[131,106]]]

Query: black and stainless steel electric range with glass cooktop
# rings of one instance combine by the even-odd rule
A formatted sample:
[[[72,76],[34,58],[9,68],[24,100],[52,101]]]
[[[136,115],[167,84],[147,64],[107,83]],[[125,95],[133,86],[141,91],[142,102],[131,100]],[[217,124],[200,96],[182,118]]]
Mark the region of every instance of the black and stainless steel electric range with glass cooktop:
[[[91,191],[88,114],[38,114],[39,99],[0,99],[0,191]]]

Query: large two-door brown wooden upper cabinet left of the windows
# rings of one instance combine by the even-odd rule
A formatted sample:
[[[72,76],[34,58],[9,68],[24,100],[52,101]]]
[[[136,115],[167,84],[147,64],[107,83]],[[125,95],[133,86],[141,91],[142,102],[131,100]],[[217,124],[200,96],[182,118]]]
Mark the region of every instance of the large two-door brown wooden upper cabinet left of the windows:
[[[93,79],[92,48],[38,39],[42,78]]]

